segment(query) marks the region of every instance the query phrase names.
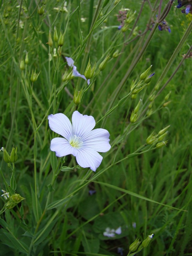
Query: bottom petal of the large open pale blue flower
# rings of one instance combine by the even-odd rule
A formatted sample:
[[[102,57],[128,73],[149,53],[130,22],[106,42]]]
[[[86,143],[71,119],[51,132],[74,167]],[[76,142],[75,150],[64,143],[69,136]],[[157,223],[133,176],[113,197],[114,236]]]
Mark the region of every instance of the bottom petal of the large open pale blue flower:
[[[76,160],[78,164],[83,167],[90,167],[92,171],[96,171],[96,169],[100,166],[103,157],[96,151],[92,149],[77,149],[75,150]]]

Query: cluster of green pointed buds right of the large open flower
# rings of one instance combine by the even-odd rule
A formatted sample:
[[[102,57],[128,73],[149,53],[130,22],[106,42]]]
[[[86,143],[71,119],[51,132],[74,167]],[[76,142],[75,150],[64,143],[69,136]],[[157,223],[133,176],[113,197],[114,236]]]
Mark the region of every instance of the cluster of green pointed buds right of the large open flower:
[[[149,137],[146,139],[146,143],[148,145],[151,144],[156,144],[156,148],[162,148],[163,146],[166,146],[166,144],[168,143],[168,140],[165,140],[165,137],[168,133],[168,128],[170,127],[170,125],[167,125],[164,129],[160,130],[158,132],[158,134],[155,134],[155,132],[152,132]]]

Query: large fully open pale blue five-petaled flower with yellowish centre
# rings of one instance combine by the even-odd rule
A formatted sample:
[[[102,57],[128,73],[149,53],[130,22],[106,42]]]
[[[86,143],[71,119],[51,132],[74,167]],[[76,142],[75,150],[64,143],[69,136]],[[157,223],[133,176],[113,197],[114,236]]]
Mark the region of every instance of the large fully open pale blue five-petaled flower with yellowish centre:
[[[50,148],[56,156],[72,154],[81,167],[90,167],[95,172],[103,159],[98,152],[107,152],[111,148],[109,132],[101,128],[92,130],[95,127],[93,116],[78,111],[73,112],[72,124],[62,113],[50,115],[48,120],[51,130],[65,138],[51,140]]]

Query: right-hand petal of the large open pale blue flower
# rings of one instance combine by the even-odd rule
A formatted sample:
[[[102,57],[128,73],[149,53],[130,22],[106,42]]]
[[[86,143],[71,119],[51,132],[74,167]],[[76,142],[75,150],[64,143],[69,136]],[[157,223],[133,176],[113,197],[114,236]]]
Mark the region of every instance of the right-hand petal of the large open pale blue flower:
[[[92,130],[85,138],[82,138],[82,148],[93,149],[98,152],[107,152],[111,145],[109,144],[109,132],[105,129],[98,128]]]

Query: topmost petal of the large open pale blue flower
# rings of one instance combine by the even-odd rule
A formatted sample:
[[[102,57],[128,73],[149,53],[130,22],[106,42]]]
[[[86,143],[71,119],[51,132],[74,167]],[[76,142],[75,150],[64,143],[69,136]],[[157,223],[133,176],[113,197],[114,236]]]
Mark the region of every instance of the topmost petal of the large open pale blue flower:
[[[82,115],[78,111],[72,115],[73,134],[77,137],[85,137],[95,127],[95,119],[93,116]]]

